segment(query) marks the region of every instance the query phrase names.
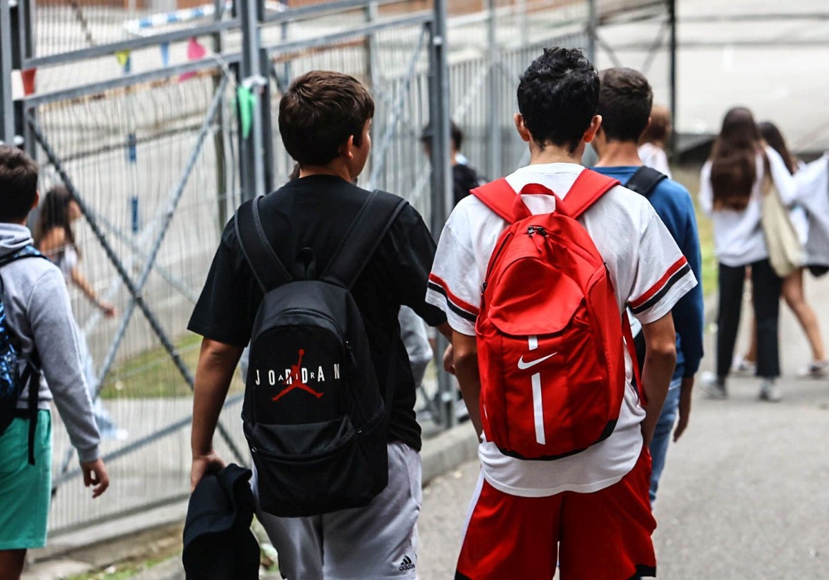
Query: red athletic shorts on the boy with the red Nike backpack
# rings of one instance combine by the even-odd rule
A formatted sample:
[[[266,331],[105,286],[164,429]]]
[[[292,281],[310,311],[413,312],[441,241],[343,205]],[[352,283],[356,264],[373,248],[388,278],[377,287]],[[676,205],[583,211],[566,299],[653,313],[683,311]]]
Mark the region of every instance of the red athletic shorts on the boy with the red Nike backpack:
[[[628,580],[656,576],[647,449],[621,481],[594,493],[519,497],[483,482],[456,580]]]

